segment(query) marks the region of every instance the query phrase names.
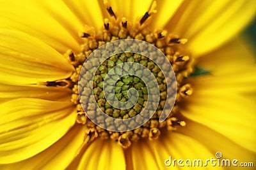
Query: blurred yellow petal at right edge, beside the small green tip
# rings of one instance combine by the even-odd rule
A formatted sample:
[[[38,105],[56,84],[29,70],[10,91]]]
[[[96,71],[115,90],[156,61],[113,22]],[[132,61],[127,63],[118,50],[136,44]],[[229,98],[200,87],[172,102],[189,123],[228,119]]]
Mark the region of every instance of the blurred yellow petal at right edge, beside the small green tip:
[[[255,55],[241,38],[200,58],[196,66],[211,72],[211,75],[191,79],[195,87],[204,87],[198,89],[200,92],[215,94],[218,90],[226,94],[228,90],[248,94],[256,91]]]

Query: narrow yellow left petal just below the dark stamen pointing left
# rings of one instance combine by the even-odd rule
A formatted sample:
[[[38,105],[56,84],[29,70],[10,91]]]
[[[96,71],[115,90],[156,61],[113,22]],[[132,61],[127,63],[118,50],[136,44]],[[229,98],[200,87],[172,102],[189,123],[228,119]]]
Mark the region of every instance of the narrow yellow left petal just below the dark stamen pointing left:
[[[17,98],[37,98],[50,101],[70,101],[70,89],[38,85],[6,85],[0,83],[0,104]]]

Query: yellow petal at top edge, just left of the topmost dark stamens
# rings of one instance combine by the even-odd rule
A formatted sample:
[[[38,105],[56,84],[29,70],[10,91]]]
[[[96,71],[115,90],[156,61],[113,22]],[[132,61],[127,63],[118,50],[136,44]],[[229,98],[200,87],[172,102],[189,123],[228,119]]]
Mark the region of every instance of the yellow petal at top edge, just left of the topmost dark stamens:
[[[64,1],[68,8],[86,25],[99,29],[103,26],[103,16],[98,1]],[[103,2],[102,2],[103,3]],[[82,30],[81,30],[82,31]]]

